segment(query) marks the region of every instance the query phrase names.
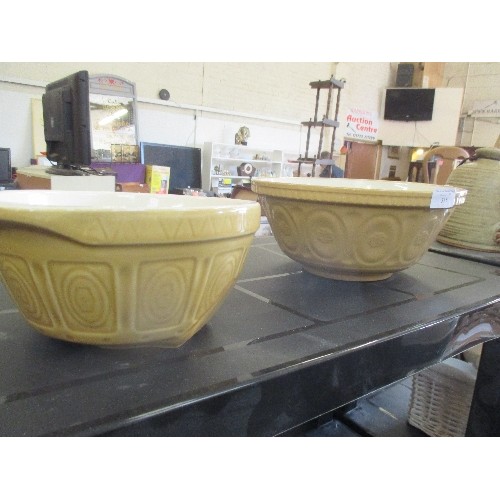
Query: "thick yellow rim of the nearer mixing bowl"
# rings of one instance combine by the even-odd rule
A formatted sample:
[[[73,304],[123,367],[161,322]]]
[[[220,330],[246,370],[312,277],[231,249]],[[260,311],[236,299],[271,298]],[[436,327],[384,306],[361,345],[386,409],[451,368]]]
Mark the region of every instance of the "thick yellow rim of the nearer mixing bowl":
[[[47,194],[51,192],[64,194]],[[0,231],[5,225],[15,225],[90,246],[205,242],[254,234],[260,226],[260,204],[251,200],[111,191],[20,190],[18,193],[5,197],[0,193]],[[29,193],[31,204],[27,202]],[[112,209],[102,204],[78,206],[75,202],[79,197],[92,198],[92,193],[97,194],[96,199],[137,199],[146,206]],[[73,205],[35,202],[61,201],[64,195],[72,198]],[[148,200],[151,206],[147,205]]]

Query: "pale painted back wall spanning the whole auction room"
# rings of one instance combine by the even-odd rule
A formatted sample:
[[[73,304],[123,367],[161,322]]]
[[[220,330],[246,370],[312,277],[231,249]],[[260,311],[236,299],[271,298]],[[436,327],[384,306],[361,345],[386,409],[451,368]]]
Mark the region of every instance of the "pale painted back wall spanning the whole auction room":
[[[305,149],[306,130],[300,122],[307,121],[314,113],[315,92],[309,82],[328,79],[333,74],[346,80],[340,101],[340,128],[336,134],[338,150],[343,142],[349,107],[367,109],[380,116],[384,89],[394,85],[397,65],[389,62],[1,62],[0,147],[11,148],[14,167],[29,164],[35,155],[31,99],[41,98],[46,83],[85,68],[91,74],[114,74],[136,83],[140,141],[194,147],[202,147],[208,141],[232,143],[239,127],[247,125],[252,145],[297,154]],[[444,86],[449,87],[445,90],[451,90],[452,94],[465,88],[464,113],[474,100],[499,98],[500,63],[446,63]],[[171,94],[167,103],[158,98],[162,88]],[[440,98],[438,100],[440,102]],[[397,130],[395,135],[394,130],[389,130],[392,135],[387,135],[387,124],[382,121],[379,139],[387,145],[404,143],[428,147],[433,142],[455,144],[458,140],[462,145],[492,146],[493,139],[500,133],[500,125],[477,120],[465,120],[465,131],[457,132],[455,112],[439,130],[429,131],[420,124],[415,130],[413,125],[403,123],[408,125],[407,130]],[[398,124],[398,128],[400,126]],[[448,132],[451,134],[453,129],[452,138]],[[445,133],[446,137],[441,135]],[[327,134],[326,144],[330,138]],[[382,165],[381,175],[384,168]]]

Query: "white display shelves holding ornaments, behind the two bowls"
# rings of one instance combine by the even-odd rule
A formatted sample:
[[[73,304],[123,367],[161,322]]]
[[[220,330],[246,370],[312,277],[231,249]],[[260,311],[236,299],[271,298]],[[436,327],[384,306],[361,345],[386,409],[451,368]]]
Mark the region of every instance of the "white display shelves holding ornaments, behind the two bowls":
[[[238,144],[206,142],[203,147],[202,187],[230,196],[234,186],[252,177],[281,177],[283,152]]]

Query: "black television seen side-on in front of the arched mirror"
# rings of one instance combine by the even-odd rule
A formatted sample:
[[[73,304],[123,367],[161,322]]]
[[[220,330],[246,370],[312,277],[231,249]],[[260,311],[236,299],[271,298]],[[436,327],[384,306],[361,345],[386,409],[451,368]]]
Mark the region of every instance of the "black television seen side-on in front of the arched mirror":
[[[78,71],[49,83],[42,96],[47,158],[59,168],[91,162],[91,122],[88,71]]]

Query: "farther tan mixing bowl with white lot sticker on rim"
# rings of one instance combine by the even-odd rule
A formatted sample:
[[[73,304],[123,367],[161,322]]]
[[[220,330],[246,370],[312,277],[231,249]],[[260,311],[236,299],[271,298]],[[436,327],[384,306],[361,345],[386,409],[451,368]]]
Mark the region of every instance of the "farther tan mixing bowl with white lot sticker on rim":
[[[252,179],[281,250],[304,269],[348,281],[386,279],[416,263],[466,190],[319,177]]]

